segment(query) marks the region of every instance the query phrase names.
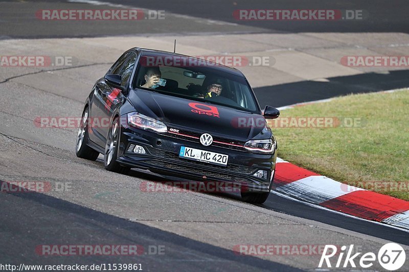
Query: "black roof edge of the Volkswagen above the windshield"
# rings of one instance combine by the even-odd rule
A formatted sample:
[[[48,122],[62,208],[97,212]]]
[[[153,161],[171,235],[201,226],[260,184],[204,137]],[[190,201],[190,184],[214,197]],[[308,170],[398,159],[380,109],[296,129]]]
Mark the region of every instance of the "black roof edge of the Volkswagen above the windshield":
[[[206,61],[206,62],[210,62],[210,63],[217,63],[214,61],[210,61],[210,60],[203,60],[201,58],[197,58],[197,57],[193,57],[193,56],[188,56],[188,55],[183,55],[183,54],[178,54],[178,53],[173,53],[173,52],[167,52],[167,51],[161,51],[161,50],[154,50],[154,49],[149,49],[149,48],[140,48],[140,47],[133,47],[128,51],[140,51],[142,53],[142,56],[144,57],[178,57],[181,59],[195,59],[195,60],[201,60],[201,61]],[[232,73],[233,75],[237,75],[237,76],[241,76],[244,77],[243,73],[231,66],[227,66],[227,65],[223,65],[221,63],[217,63],[217,65],[215,66],[211,66],[212,68],[215,68],[216,70],[220,70],[223,72],[228,72],[228,73]]]

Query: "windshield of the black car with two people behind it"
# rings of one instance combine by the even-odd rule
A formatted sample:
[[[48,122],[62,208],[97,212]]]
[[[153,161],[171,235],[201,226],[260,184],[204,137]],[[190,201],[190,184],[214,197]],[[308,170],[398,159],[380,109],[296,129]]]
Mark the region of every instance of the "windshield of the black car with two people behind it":
[[[165,58],[142,56],[132,86],[259,113],[244,77],[224,72],[217,68],[219,64],[206,60]]]

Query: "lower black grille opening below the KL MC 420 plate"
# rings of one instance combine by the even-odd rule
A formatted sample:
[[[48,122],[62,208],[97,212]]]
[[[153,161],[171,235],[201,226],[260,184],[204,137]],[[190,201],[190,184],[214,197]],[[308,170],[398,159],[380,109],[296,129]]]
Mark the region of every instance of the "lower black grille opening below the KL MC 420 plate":
[[[190,164],[192,166],[196,166],[196,165],[197,166],[205,166],[205,167],[213,168],[215,170],[216,169],[222,170],[222,171],[227,170],[227,171],[237,172],[237,173],[245,174],[245,175],[251,175],[258,169],[258,168],[254,168],[254,167],[248,167],[248,166],[230,164],[230,163],[228,163],[228,165],[226,165],[226,166],[219,166],[219,165],[210,164],[210,163],[201,162],[201,161],[184,160],[184,159],[179,158],[178,153],[169,152],[169,151],[165,151],[165,150],[161,150],[161,149],[153,149],[151,147],[148,148],[148,151],[150,152],[150,154],[152,154],[153,156],[158,157],[158,158],[176,160],[176,161],[180,161],[180,162],[183,162],[183,163],[186,163],[186,164]]]

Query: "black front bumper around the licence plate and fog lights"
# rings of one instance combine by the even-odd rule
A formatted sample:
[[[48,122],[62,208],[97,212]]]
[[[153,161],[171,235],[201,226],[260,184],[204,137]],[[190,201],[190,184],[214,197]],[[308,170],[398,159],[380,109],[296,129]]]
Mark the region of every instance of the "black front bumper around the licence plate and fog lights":
[[[146,154],[135,154],[132,146],[143,146]],[[226,166],[179,158],[180,146],[229,155]],[[197,139],[178,138],[172,133],[154,133],[121,127],[117,161],[127,167],[202,182],[223,182],[240,186],[242,191],[267,192],[271,188],[276,166],[274,154],[254,154],[220,146],[203,146]],[[266,170],[265,179],[253,176]]]

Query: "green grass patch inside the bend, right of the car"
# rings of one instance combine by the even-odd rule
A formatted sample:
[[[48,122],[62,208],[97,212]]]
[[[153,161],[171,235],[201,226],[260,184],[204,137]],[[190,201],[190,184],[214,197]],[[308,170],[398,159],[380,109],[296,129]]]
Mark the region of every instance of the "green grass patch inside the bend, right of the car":
[[[398,189],[375,191],[409,200],[409,90],[337,97],[283,110],[279,119],[296,116],[352,117],[360,124],[352,128],[273,126],[280,158],[351,185],[390,182]]]

